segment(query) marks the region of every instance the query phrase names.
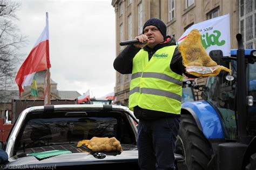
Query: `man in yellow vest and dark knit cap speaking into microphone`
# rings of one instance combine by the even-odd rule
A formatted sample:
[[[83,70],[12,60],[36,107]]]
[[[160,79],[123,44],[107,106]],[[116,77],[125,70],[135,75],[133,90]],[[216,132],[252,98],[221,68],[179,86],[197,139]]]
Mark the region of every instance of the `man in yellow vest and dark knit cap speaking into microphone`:
[[[135,37],[145,44],[127,46],[114,60],[114,69],[132,74],[129,108],[139,119],[140,169],[175,169],[174,147],[179,129],[183,60],[166,25],[150,18],[143,34]]]

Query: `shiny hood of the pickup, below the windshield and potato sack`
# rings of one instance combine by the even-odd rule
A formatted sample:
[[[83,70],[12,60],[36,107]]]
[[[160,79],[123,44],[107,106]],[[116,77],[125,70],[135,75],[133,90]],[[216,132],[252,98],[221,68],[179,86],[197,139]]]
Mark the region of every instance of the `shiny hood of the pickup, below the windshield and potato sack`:
[[[62,150],[71,151],[71,153],[59,154],[53,157],[37,159],[34,156],[28,156],[28,153],[40,153],[43,151],[56,151],[62,147]],[[88,152],[86,147],[80,147],[80,150],[72,145],[43,146],[37,148],[25,149],[25,152],[19,153],[9,158],[6,167],[26,166],[79,166],[93,164],[108,164],[122,162],[138,162],[138,149],[136,145],[122,145],[123,152]]]

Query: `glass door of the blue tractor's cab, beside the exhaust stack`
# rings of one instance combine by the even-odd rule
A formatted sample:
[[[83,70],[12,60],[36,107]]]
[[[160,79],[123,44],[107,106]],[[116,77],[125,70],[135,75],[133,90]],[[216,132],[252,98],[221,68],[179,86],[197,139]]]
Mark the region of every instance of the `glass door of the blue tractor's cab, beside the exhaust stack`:
[[[207,100],[218,109],[228,132],[228,139],[234,139],[236,133],[235,123],[235,81],[237,80],[236,62],[231,62],[234,80],[228,81],[226,76],[230,73],[221,71],[217,77],[208,77],[205,94]]]

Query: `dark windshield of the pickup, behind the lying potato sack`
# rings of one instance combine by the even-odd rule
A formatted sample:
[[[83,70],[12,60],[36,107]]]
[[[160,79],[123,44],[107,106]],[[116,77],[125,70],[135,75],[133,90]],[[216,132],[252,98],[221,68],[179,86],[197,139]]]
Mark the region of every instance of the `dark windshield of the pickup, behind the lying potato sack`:
[[[35,114],[26,121],[23,130],[18,134],[15,150],[58,144],[76,146],[78,141],[92,137],[115,137],[121,144],[136,142],[127,115],[124,113],[87,113],[86,116],[70,116],[63,113],[50,117],[49,115]]]

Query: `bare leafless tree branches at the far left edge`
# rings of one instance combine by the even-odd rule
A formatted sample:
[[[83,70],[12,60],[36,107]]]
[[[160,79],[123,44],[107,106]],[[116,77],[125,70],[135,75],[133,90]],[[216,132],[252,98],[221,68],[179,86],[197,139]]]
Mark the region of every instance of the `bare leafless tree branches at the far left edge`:
[[[26,37],[21,35],[15,24],[18,21],[16,11],[20,6],[19,2],[0,0],[0,91],[14,84],[22,56],[19,49],[26,43]]]

